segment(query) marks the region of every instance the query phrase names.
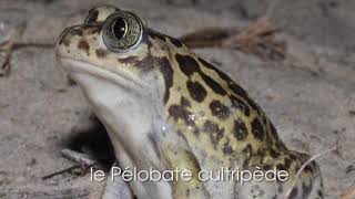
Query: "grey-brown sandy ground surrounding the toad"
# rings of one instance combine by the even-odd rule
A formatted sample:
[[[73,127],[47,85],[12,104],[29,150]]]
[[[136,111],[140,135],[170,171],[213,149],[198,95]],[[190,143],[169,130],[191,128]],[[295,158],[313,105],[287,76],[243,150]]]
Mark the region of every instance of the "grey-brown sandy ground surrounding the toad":
[[[265,14],[271,2],[105,1],[133,10],[150,27],[173,36],[204,27],[243,27]],[[11,28],[27,22],[21,41],[53,43],[98,3],[102,1],[0,0],[0,42]],[[336,151],[318,159],[326,198],[355,186],[354,10],[354,0],[276,3],[268,17],[283,30],[280,39],[288,46],[285,61],[262,61],[232,50],[196,50],[248,91],[290,148],[315,155],[338,143]],[[20,49],[11,65],[11,75],[0,77],[0,198],[97,196],[103,184],[91,182],[88,174],[42,179],[74,165],[61,156],[64,147],[89,150],[83,148],[98,145],[99,158],[109,151],[102,128],[78,86],[59,70],[53,49]]]

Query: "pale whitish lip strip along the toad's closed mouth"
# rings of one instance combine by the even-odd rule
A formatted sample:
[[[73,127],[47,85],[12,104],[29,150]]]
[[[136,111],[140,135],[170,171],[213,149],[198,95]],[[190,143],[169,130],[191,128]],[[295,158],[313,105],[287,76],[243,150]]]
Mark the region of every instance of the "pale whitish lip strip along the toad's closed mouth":
[[[120,84],[121,86],[139,86],[139,88],[145,87],[144,83],[142,83],[142,81],[139,81],[138,77],[119,72],[114,73],[110,70],[101,67],[100,65],[93,66],[88,62],[65,56],[58,56],[58,60],[61,62],[62,66],[64,67],[64,71],[69,73],[69,75],[71,75],[71,73],[87,73],[89,75],[109,80],[115,84]]]

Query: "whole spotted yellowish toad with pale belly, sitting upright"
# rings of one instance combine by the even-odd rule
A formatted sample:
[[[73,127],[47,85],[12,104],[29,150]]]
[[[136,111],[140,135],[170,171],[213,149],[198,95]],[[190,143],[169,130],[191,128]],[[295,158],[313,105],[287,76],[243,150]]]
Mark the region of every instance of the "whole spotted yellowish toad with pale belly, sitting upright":
[[[104,124],[121,168],[187,169],[189,181],[108,180],[102,198],[323,198],[315,161],[288,150],[227,75],[139,17],[105,6],[57,42],[64,71]],[[281,181],[201,181],[199,171],[285,170]],[[295,182],[295,184],[293,184]]]

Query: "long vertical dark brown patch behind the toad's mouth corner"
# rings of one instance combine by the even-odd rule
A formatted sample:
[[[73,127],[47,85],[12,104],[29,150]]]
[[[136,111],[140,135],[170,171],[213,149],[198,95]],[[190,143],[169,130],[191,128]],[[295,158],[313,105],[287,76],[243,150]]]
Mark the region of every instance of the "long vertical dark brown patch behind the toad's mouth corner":
[[[170,96],[170,88],[173,86],[173,69],[171,66],[171,63],[166,57],[163,57],[159,60],[159,65],[160,65],[160,72],[163,74],[164,77],[164,84],[165,84],[165,93],[163,97],[164,104],[166,104],[169,96]]]

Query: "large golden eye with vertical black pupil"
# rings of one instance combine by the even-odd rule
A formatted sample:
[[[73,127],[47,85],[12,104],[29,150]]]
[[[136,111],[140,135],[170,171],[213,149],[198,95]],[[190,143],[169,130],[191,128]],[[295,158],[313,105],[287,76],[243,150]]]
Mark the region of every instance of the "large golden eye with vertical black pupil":
[[[103,25],[102,40],[112,51],[124,51],[139,44],[142,32],[142,22],[135,14],[115,12],[106,19]]]

